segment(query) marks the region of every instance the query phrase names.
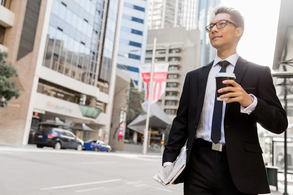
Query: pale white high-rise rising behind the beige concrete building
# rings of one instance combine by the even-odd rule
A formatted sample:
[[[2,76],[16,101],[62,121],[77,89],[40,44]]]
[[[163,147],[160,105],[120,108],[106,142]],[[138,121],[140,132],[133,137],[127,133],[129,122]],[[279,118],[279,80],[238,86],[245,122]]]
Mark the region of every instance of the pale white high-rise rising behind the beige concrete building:
[[[197,0],[150,0],[148,29],[196,28]]]

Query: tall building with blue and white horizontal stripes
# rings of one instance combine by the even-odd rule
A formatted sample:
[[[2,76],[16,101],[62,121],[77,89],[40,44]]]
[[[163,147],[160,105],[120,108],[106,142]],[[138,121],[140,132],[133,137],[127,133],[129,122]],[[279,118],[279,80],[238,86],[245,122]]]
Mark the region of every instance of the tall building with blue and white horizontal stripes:
[[[124,1],[117,67],[126,72],[135,85],[139,79],[138,65],[145,61],[147,7],[146,0]]]

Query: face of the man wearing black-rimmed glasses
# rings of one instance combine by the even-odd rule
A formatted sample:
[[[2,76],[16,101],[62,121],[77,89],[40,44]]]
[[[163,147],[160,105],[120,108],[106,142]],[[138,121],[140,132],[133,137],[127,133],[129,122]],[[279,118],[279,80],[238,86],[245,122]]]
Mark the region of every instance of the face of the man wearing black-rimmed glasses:
[[[216,15],[213,20],[210,21],[210,24],[216,23],[220,20],[229,20],[235,23],[233,20],[230,19],[230,14],[220,13]],[[238,29],[239,28],[230,23],[227,23],[224,28],[220,29],[218,29],[218,27],[214,25],[212,30],[209,32],[210,44],[217,50],[225,48],[227,46],[230,47],[235,43],[237,44],[237,39],[239,37]]]

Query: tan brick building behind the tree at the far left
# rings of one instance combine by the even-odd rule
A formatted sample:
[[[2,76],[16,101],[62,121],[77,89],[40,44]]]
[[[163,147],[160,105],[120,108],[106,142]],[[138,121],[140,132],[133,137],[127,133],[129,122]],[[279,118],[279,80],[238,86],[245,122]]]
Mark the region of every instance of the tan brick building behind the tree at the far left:
[[[36,65],[42,62],[46,0],[0,0],[0,50],[9,54],[8,64],[18,68],[21,97],[0,110],[0,142],[21,144],[27,123]],[[28,136],[28,135],[27,135]]]

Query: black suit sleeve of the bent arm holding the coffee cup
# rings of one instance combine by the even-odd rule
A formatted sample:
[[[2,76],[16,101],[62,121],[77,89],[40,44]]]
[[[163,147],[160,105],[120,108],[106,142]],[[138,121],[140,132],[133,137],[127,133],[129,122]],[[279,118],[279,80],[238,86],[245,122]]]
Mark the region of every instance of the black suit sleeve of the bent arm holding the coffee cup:
[[[283,133],[288,127],[287,114],[276,95],[271,69],[268,66],[265,66],[261,73],[257,105],[250,116],[263,128],[275,134]]]

